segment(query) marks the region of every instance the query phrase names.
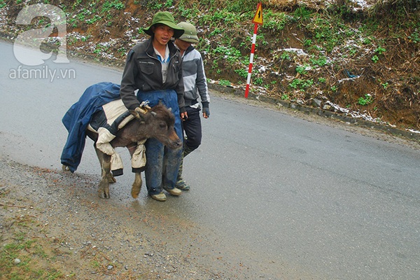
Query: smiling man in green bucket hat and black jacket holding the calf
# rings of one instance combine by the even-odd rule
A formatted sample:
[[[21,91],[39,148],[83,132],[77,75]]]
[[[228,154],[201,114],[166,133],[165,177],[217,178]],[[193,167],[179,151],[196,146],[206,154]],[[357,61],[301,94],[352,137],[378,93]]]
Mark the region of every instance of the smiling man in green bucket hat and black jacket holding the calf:
[[[150,106],[162,102],[175,115],[175,131],[183,139],[181,118],[188,118],[183,98],[182,58],[171,38],[184,33],[169,12],[153,15],[152,24],[144,29],[151,36],[127,53],[120,95],[127,109],[135,110],[148,101]],[[137,96],[135,91],[138,90]],[[154,200],[167,199],[163,189],[171,195],[181,195],[175,187],[182,148],[171,150],[156,139],[146,141],[146,187]]]

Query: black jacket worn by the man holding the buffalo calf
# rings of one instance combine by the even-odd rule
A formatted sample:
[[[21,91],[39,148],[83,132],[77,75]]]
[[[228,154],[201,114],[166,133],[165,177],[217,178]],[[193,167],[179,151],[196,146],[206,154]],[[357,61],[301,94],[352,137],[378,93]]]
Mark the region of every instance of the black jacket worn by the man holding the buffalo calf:
[[[169,65],[167,80],[162,83],[162,64],[155,54],[153,37],[134,45],[127,54],[120,95],[127,109],[135,109],[139,101],[135,90],[144,92],[153,90],[175,90],[178,95],[180,113],[186,111],[183,98],[182,58],[174,43],[169,42]]]

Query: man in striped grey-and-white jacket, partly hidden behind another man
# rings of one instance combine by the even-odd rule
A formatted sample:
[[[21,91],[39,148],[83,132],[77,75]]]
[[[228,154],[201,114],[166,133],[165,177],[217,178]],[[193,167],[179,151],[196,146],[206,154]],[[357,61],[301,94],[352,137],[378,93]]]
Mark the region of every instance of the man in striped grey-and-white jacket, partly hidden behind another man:
[[[200,120],[200,103],[202,105],[203,118],[210,116],[210,96],[207,87],[206,74],[204,73],[203,59],[198,50],[196,50],[192,43],[199,43],[197,36],[197,29],[189,22],[179,22],[179,27],[182,27],[185,32],[175,39],[175,45],[179,48],[183,59],[183,83],[184,83],[184,100],[186,104],[186,111],[188,113],[188,120],[183,124],[183,131],[186,134],[183,144],[183,158],[198,148],[202,141],[202,125]],[[176,179],[176,188],[180,190],[189,190],[190,186],[182,177],[183,160],[179,167],[178,178]]]

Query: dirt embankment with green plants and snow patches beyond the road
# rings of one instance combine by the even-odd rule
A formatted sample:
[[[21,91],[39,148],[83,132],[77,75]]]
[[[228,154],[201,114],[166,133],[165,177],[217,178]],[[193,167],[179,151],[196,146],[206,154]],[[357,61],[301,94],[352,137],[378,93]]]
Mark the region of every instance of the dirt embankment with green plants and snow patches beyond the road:
[[[25,30],[15,25],[15,18],[32,2],[0,2],[0,31],[15,38]],[[68,14],[69,51],[120,66],[135,41],[147,38],[141,28],[150,24],[153,13],[169,10],[176,21],[197,25],[202,38],[197,49],[203,53],[207,77],[244,91],[252,12],[231,13],[224,1],[211,1],[220,8],[200,1],[49,2]],[[407,6],[395,4],[402,2]],[[375,3],[386,5],[374,9]],[[278,0],[264,3],[262,15],[252,97],[420,131],[418,1]],[[45,25],[45,19],[34,22]],[[47,41],[57,43],[55,36]]]

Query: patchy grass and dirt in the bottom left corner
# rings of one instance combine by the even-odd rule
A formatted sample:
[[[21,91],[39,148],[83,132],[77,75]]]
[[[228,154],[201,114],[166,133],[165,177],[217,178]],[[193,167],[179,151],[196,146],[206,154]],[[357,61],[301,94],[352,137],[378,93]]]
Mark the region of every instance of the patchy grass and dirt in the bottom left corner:
[[[45,222],[45,205],[25,197],[20,189],[22,186],[0,183],[0,280],[153,277],[146,269],[134,272],[131,265],[114,262],[102,248],[69,241],[62,228]]]

